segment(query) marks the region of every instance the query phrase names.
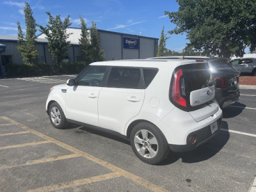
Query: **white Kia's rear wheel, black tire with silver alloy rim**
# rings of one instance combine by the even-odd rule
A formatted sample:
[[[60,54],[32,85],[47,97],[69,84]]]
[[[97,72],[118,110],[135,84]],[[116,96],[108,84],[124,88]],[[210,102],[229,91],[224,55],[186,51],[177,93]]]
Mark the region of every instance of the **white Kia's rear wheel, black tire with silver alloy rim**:
[[[142,133],[144,135],[146,133],[148,140],[143,138]],[[140,138],[140,140],[138,140],[138,138]],[[156,140],[154,140],[154,138],[156,138]],[[136,154],[141,161],[148,164],[160,163],[170,153],[170,148],[163,133],[158,127],[147,122],[141,122],[133,127],[130,141],[134,154]]]

